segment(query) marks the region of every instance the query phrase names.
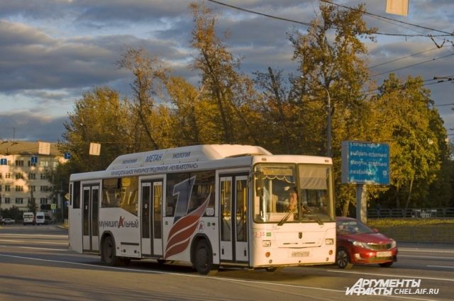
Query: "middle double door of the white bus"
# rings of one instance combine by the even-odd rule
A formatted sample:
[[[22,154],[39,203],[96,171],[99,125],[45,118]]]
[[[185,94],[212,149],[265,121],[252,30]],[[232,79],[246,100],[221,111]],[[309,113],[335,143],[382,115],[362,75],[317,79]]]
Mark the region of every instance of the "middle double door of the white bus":
[[[162,180],[141,183],[142,254],[162,256]]]

